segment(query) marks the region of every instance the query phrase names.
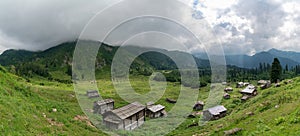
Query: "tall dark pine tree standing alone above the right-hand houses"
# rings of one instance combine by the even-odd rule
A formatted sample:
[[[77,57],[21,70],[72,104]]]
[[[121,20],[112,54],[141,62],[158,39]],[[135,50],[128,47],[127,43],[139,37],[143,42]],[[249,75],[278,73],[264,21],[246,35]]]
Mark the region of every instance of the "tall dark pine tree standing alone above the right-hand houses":
[[[280,65],[280,62],[278,60],[278,58],[274,58],[274,61],[272,63],[272,67],[271,67],[271,82],[275,83],[277,82],[277,80],[281,79],[281,75],[282,75],[282,67]]]

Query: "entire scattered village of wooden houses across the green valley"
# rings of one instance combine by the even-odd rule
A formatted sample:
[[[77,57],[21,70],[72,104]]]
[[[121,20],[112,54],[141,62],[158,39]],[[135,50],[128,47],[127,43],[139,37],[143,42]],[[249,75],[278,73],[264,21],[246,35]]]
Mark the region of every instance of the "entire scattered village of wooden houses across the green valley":
[[[290,83],[292,81],[287,81]],[[287,84],[285,83],[285,84]],[[227,83],[222,83],[223,85],[228,85]],[[261,89],[266,89],[271,87],[271,82],[269,80],[259,80],[257,82]],[[275,87],[280,86],[279,83],[275,84]],[[241,100],[246,101],[249,98],[255,97],[257,93],[257,87],[244,82],[238,82],[236,84],[237,88],[243,88],[240,90],[242,94]],[[224,89],[224,99],[230,99],[230,92],[233,91],[232,87],[226,87]],[[98,91],[87,91],[88,98],[99,97]],[[166,101],[170,103],[176,103],[176,100],[167,98]],[[195,103],[193,109],[195,111],[203,110],[204,102],[198,101]],[[138,102],[128,104],[124,107],[114,109],[114,100],[105,99],[100,101],[95,101],[93,106],[93,111],[95,114],[101,114],[103,117],[103,124],[110,129],[120,129],[120,130],[133,130],[141,126],[145,121],[146,117],[149,118],[159,118],[165,117],[167,112],[165,106],[155,105],[153,102],[146,103],[146,106]],[[217,120],[225,117],[227,114],[227,109],[223,105],[218,105],[202,112],[204,120]]]

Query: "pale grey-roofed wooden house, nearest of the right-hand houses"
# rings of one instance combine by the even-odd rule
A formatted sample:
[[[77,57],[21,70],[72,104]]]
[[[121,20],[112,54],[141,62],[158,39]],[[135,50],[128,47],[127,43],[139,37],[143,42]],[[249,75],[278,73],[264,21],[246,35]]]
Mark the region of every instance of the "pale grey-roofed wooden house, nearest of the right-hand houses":
[[[218,105],[212,108],[209,108],[207,110],[203,111],[203,119],[204,120],[217,120],[220,118],[223,118],[226,116],[227,113],[227,109],[222,106],[222,105]]]

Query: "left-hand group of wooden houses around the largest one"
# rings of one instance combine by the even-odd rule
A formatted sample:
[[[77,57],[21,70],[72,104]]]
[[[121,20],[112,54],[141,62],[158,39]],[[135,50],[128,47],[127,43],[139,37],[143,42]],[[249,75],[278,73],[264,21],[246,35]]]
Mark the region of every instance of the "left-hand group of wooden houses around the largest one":
[[[88,98],[99,97],[98,91],[87,91]],[[95,101],[93,112],[103,117],[103,124],[109,129],[133,130],[141,126],[146,117],[159,118],[167,115],[165,106],[148,102],[145,105],[138,102],[130,103],[115,109],[113,99]]]

